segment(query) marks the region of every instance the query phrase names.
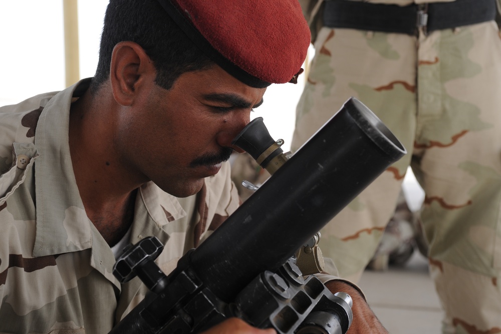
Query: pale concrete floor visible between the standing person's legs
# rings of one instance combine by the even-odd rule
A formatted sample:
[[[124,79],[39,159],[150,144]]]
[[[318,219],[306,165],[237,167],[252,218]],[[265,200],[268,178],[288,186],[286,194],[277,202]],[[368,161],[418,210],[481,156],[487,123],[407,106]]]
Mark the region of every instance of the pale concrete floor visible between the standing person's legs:
[[[390,334],[441,333],[442,309],[418,251],[402,267],[366,270],[358,285]]]

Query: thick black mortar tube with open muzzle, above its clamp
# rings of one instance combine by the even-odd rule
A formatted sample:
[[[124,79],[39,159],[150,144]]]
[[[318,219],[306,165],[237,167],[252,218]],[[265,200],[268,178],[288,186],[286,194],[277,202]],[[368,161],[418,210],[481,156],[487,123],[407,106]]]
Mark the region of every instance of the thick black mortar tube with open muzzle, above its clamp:
[[[232,301],[259,273],[279,269],[405,153],[351,98],[192,252],[190,266],[216,296]]]

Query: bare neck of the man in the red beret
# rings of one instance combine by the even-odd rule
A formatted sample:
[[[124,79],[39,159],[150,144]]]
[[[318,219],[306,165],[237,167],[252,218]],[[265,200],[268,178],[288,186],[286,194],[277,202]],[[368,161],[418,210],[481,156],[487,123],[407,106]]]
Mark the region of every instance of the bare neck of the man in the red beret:
[[[120,163],[114,147],[111,102],[87,91],[70,111],[70,154],[85,211],[105,240],[114,244],[133,220],[136,189],[144,182]]]

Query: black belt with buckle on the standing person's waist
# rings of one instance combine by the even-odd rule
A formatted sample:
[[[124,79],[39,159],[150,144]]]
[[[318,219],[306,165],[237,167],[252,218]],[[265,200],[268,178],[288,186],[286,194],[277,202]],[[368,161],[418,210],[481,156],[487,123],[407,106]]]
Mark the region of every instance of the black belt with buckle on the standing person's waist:
[[[417,35],[494,20],[495,0],[455,0],[409,6],[360,1],[325,2],[324,25],[385,33]]]

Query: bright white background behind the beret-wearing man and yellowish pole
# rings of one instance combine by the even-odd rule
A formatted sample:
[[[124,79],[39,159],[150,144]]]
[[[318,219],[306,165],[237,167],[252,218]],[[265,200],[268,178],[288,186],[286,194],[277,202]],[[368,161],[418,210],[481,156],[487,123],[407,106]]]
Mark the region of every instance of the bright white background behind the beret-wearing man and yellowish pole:
[[[80,77],[92,77],[106,0],[78,2]],[[63,2],[61,0],[0,1],[0,106],[65,88]],[[295,108],[304,85],[272,85],[265,103],[253,113],[263,117],[273,138],[290,148]]]

